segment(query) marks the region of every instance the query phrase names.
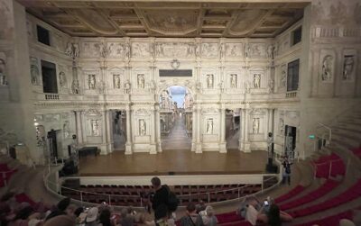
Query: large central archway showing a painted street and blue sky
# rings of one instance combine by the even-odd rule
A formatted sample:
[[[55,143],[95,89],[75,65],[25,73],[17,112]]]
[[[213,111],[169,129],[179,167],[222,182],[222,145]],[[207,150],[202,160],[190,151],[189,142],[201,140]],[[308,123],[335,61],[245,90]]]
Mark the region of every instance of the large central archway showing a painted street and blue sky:
[[[185,86],[169,86],[159,96],[162,149],[191,148],[193,97]]]

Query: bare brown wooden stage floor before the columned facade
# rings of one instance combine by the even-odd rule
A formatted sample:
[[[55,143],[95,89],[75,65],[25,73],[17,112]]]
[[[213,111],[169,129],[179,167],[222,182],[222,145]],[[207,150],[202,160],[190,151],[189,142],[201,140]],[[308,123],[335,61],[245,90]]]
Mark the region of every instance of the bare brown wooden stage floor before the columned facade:
[[[254,150],[227,153],[190,150],[164,150],[162,153],[134,153],[125,155],[115,151],[106,156],[79,159],[79,176],[160,176],[160,175],[220,175],[264,174],[267,152]]]

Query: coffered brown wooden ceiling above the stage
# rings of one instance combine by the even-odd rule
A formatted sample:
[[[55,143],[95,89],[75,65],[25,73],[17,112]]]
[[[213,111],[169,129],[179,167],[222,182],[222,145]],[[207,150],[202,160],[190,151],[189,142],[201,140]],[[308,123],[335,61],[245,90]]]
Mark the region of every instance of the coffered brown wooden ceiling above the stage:
[[[308,3],[19,0],[30,14],[81,37],[274,37]]]

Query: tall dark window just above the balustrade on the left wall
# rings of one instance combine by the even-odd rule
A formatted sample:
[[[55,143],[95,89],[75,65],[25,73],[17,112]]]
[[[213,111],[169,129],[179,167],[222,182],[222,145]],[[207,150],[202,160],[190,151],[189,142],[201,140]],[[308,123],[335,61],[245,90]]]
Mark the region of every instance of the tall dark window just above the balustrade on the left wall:
[[[42,90],[44,93],[58,94],[55,64],[42,60]]]

